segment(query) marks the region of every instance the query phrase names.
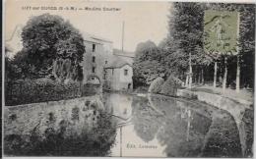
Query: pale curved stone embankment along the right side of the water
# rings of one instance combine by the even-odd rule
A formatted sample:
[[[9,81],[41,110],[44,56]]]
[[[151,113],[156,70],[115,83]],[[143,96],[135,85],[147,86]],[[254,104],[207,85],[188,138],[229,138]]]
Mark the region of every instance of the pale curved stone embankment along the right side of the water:
[[[188,99],[196,99],[219,109],[225,110],[231,114],[239,130],[242,155],[252,155],[252,143],[248,144],[248,142],[252,142],[253,140],[253,101],[244,100],[243,98],[238,97],[233,98],[235,94],[227,96],[226,94],[221,93],[200,91],[200,89],[193,91],[193,88],[178,89],[177,96]]]

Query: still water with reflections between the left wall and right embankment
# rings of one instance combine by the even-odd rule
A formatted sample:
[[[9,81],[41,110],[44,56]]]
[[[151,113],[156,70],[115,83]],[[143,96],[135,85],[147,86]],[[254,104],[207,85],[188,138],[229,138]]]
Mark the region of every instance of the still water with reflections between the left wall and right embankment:
[[[118,121],[111,156],[241,157],[239,130],[226,111],[160,95],[105,94]]]

